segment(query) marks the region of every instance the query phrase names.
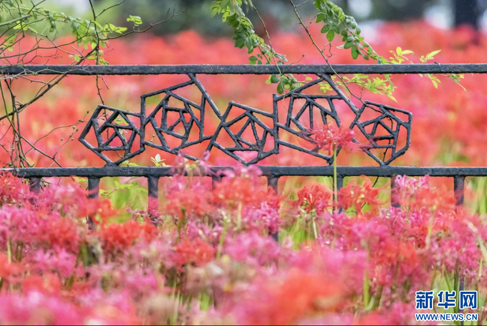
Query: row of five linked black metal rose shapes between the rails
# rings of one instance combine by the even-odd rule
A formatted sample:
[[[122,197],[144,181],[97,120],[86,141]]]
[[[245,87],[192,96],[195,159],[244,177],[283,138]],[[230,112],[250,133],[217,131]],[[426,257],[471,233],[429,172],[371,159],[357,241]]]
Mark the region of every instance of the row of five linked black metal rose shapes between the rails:
[[[388,165],[395,158],[404,154],[411,143],[412,113],[369,101],[365,101],[362,107],[358,109],[333,82],[330,75],[318,76],[316,80],[285,95],[274,94],[272,113],[232,101],[228,104],[224,114],[219,111],[195,75],[188,74],[188,77],[189,80],[186,82],[141,96],[141,109],[138,114],[99,105],[82,131],[79,140],[105,160],[107,165],[119,165],[144,152],[146,146],[178,154],[183,149],[205,141],[208,141],[206,150],[211,151],[215,147],[244,164],[255,164],[270,155],[278,154],[280,146],[320,157],[332,164],[332,157],[320,153],[318,147],[309,149],[299,144],[290,143],[281,139],[279,133],[285,131],[303,141],[310,141],[310,135],[317,122],[326,125],[333,121],[337,126],[340,126],[341,122],[335,103],[341,101],[355,114],[355,119],[349,128],[358,129],[368,140],[367,144],[361,145],[362,150],[380,165]],[[334,94],[308,95],[303,93],[304,90],[319,83],[328,83]],[[199,90],[201,93],[200,100],[191,101],[177,94],[179,89],[190,85],[196,86]],[[162,99],[158,100],[155,108],[146,114],[147,101],[154,96]],[[284,99],[288,99],[289,104],[285,121],[280,122],[278,106]],[[298,101],[301,102],[300,105],[296,105]],[[303,101],[304,104],[302,104]],[[219,124],[213,133],[207,133],[205,130],[206,110],[211,110],[219,119]],[[375,112],[375,116],[367,117],[369,111]],[[240,112],[240,114],[233,117],[232,114],[236,112]],[[315,121],[314,113],[318,113],[320,121]],[[169,115],[173,116],[170,122],[168,120]],[[401,118],[399,115],[403,117]],[[263,121],[264,119],[267,120],[267,123]],[[307,121],[309,127],[304,126],[302,119]],[[231,127],[237,125],[238,131],[232,131]],[[148,126],[155,133],[150,140],[146,137]],[[92,130],[96,139],[96,146],[86,139]],[[231,140],[231,145],[225,146],[219,140],[219,136],[224,134]],[[399,145],[401,134],[405,135],[405,145]],[[137,136],[140,137],[140,146],[132,152]],[[192,136],[191,139],[190,136]],[[181,143],[171,147],[168,137],[180,139]],[[390,158],[386,159],[384,156],[381,159],[372,152],[382,149],[384,151],[390,150]],[[110,159],[105,152],[116,152],[118,157],[115,160]],[[253,155],[246,155],[246,152],[252,152]],[[187,158],[198,159],[198,157],[187,153],[183,154]]]

